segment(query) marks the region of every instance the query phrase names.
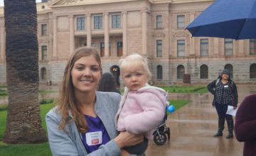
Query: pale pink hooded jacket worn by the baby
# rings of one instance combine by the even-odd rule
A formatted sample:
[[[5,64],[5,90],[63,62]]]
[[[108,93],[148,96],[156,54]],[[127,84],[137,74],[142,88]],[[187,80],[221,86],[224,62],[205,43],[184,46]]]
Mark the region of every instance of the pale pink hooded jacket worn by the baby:
[[[138,91],[124,89],[115,117],[117,130],[129,133],[144,134],[153,139],[153,132],[164,120],[166,108],[166,91],[146,85]]]

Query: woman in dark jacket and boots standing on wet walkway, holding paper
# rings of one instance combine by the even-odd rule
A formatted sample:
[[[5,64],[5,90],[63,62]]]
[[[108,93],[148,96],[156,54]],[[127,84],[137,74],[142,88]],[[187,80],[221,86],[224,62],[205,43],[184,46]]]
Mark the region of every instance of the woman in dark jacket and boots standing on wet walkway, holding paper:
[[[233,106],[234,109],[238,106],[238,90],[230,79],[230,72],[224,69],[219,79],[215,79],[207,86],[211,94],[214,95],[213,106],[218,113],[218,132],[214,137],[222,136],[225,125],[225,119],[228,123],[227,139],[233,138],[234,121],[231,115],[226,114],[228,106]]]

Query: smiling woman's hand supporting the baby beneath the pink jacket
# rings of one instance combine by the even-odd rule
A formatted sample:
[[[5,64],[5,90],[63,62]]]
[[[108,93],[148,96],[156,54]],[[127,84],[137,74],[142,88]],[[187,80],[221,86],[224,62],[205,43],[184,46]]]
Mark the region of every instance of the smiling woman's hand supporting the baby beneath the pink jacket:
[[[114,138],[114,141],[117,143],[119,148],[137,145],[142,143],[144,140],[144,135],[132,134],[127,131],[122,131]]]

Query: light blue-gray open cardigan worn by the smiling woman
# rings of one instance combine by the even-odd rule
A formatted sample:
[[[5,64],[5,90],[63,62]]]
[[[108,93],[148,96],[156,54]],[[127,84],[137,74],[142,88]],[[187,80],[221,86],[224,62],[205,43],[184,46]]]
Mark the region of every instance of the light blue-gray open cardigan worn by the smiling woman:
[[[117,136],[117,130],[114,126],[114,116],[119,108],[120,98],[121,96],[117,93],[97,91],[95,113],[104,124],[111,140],[107,144],[101,145],[98,150],[91,152],[89,155],[120,155],[121,150],[113,140]],[[70,113],[70,119],[71,116],[72,114]],[[62,116],[58,111],[58,107],[52,108],[46,114],[48,140],[53,155],[88,155],[85,146],[82,144],[75,122],[67,124],[65,130],[68,133],[65,133],[63,130],[58,129],[61,118]]]

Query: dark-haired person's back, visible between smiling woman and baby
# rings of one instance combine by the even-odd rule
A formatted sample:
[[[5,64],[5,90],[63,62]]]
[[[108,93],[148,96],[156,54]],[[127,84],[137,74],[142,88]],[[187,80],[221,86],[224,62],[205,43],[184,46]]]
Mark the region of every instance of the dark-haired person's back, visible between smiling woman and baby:
[[[100,79],[98,91],[111,91],[121,94],[120,91],[117,89],[117,84],[114,81],[114,76],[110,72],[105,72],[102,74]]]

